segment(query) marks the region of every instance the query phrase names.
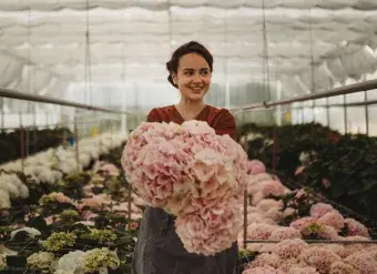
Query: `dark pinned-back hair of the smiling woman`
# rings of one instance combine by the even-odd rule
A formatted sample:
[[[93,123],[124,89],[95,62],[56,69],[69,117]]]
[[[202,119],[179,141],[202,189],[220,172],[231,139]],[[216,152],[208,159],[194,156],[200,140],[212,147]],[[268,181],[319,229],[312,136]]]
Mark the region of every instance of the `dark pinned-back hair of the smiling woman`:
[[[173,87],[179,88],[173,82],[172,73],[173,72],[177,73],[179,62],[180,62],[181,57],[187,53],[193,53],[193,52],[202,55],[205,59],[205,61],[208,63],[211,72],[213,71],[213,57],[211,52],[203,44],[196,41],[191,41],[188,43],[182,44],[180,48],[177,48],[174,51],[172,59],[166,63],[166,69],[169,71],[167,80]]]

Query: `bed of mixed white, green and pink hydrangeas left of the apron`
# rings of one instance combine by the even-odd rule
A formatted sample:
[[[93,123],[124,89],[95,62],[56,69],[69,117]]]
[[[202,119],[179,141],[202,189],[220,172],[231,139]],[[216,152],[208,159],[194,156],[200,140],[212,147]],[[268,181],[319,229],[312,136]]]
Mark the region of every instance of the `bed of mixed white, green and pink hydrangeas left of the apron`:
[[[130,273],[142,203],[122,171],[96,161],[91,170],[64,174],[49,191],[37,203],[14,201],[1,211],[0,271]]]

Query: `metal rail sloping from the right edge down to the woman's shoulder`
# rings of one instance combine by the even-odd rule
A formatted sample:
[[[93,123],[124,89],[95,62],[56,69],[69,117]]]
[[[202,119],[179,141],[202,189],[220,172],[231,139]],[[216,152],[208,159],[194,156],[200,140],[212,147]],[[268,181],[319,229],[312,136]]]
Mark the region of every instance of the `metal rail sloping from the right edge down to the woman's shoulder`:
[[[309,101],[309,100],[350,94],[350,93],[356,93],[356,92],[367,91],[367,90],[375,90],[375,89],[377,89],[377,79],[360,82],[360,83],[348,84],[348,85],[335,88],[332,90],[314,92],[310,94],[305,94],[305,95],[296,97],[296,98],[288,99],[288,100],[254,103],[254,104],[249,104],[249,105],[245,105],[241,108],[234,108],[231,110],[232,111],[246,111],[246,110],[254,110],[254,109],[268,109],[271,106],[276,106],[276,105],[292,104],[295,102],[304,102],[304,101]],[[363,103],[364,103],[363,105],[365,105],[365,102]]]

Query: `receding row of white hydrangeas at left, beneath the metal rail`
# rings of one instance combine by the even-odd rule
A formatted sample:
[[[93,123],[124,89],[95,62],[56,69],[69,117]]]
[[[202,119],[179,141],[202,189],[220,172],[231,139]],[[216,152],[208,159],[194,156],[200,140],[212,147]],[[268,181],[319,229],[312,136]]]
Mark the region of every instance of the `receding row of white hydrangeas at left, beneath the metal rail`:
[[[33,156],[0,165],[0,209],[9,209],[16,203],[35,203],[43,193],[51,192],[61,180],[70,182],[70,174],[90,169],[101,155],[122,146],[124,134],[103,134],[79,142],[79,164],[74,148],[59,146]],[[85,179],[82,177],[84,183]],[[23,201],[26,200],[26,201]]]

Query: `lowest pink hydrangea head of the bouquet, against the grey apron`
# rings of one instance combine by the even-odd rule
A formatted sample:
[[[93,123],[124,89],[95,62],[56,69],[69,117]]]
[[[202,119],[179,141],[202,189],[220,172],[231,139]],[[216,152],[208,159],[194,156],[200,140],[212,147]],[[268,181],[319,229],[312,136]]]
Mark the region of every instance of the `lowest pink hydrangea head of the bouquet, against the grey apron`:
[[[196,254],[214,255],[226,250],[237,239],[242,227],[237,207],[221,206],[177,216],[176,233],[184,247]]]

